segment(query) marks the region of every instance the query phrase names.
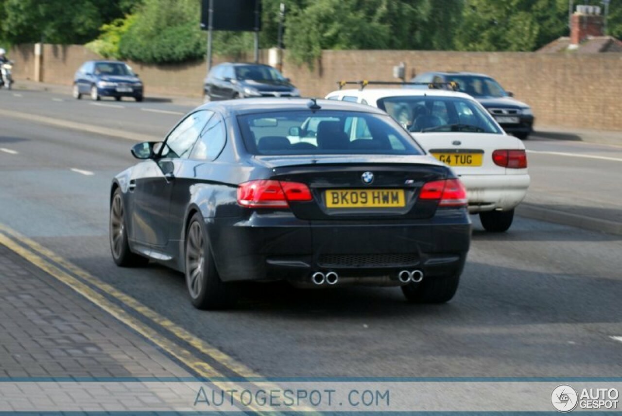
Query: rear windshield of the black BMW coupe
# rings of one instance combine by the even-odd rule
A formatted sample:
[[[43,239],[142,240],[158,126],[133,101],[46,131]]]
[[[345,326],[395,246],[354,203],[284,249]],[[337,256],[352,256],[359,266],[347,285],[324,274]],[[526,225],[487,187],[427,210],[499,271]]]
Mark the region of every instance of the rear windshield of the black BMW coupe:
[[[246,149],[255,155],[421,155],[393,119],[355,111],[274,111],[238,117]]]

